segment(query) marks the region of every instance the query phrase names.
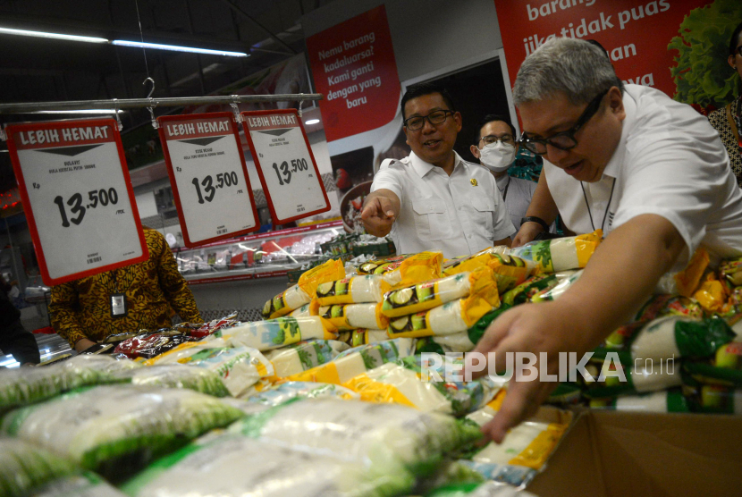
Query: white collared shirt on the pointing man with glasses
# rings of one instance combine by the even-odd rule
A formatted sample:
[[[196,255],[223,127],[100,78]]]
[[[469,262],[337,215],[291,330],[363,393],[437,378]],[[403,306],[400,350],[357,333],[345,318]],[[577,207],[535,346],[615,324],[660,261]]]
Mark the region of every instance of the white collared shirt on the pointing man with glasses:
[[[398,254],[439,250],[446,258],[465,256],[514,232],[493,175],[454,155],[451,176],[414,152],[376,173],[371,191],[392,190],[401,201],[390,233]]]

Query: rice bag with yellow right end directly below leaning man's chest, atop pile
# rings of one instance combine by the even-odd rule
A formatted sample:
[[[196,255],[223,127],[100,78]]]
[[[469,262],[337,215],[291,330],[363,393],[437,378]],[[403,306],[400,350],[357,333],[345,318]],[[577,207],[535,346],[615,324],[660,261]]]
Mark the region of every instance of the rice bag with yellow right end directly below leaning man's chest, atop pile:
[[[595,230],[573,237],[537,240],[511,249],[510,255],[535,262],[543,273],[581,269],[593,257],[603,239],[603,231]]]

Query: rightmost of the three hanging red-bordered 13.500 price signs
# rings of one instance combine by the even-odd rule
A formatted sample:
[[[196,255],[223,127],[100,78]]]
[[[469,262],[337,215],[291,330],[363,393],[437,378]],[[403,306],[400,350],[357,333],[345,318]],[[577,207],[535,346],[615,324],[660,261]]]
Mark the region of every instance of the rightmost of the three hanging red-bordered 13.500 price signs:
[[[275,224],[327,212],[307,131],[294,109],[243,112],[245,134]]]

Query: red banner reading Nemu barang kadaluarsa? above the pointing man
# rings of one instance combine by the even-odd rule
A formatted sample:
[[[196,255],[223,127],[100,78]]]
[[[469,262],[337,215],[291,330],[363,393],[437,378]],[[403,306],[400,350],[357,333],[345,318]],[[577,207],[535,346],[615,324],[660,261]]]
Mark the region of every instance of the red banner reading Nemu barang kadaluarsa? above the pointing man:
[[[384,5],[307,38],[327,141],[392,121],[400,78]]]

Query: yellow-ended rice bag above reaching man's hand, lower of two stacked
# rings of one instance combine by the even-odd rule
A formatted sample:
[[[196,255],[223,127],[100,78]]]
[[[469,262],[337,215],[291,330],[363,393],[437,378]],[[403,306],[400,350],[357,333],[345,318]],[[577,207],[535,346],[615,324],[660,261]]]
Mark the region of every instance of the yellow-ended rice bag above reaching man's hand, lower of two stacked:
[[[417,314],[395,317],[387,331],[392,338],[443,336],[466,332],[482,316],[500,307],[497,288],[490,280],[465,299],[458,299]]]

